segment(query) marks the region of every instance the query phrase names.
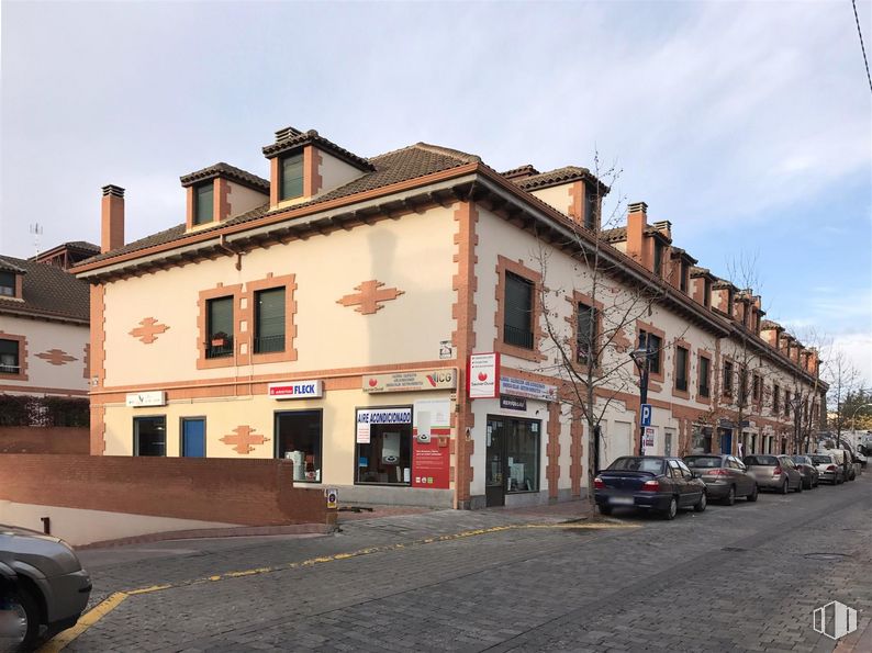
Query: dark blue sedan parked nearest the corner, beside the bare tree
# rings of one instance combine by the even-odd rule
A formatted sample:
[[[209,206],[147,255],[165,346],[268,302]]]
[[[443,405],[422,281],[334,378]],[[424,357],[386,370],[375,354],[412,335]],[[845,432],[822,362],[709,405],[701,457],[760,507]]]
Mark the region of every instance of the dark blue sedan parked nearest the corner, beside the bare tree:
[[[674,519],[680,508],[705,510],[705,483],[678,458],[626,455],[602,470],[593,481],[596,506],[603,515],[614,508],[656,510]]]

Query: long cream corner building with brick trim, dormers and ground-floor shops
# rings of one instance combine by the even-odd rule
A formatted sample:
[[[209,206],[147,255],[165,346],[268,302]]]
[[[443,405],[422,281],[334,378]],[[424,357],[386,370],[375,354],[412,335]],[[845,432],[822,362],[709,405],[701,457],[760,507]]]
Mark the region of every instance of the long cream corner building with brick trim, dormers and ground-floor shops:
[[[626,352],[640,335],[659,342],[656,452],[789,447],[784,404],[764,397],[773,379],[779,401],[794,382],[807,397],[815,356],[768,340],[759,297],[696,268],[642,203],[601,229],[608,189],[589,170],[499,173],[423,143],[365,158],[290,127],[262,153],[269,179],[226,164],[183,176],[185,221],[135,243],[124,190],[103,188],[101,254],[75,269],[91,284],[92,453],[291,458],[298,482],[345,502],[568,499],[590,438],[557,401],[547,333],[578,344],[580,317],[646,289],[645,319],[608,354],[629,381],[603,385],[602,462],[638,448]],[[580,263],[591,244],[605,306]],[[741,410],[720,385],[741,376],[739,350],[760,376]]]

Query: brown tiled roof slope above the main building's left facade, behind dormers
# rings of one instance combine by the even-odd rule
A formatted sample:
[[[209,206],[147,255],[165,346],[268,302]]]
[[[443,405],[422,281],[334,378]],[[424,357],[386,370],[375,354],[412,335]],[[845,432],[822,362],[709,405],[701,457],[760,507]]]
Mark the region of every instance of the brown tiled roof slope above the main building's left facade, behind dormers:
[[[371,161],[373,168],[371,172],[366,172],[361,177],[349,181],[345,185],[340,185],[339,188],[324,193],[323,195],[313,198],[308,202],[294,204],[293,209],[298,210],[301,207],[311,206],[313,204],[328,202],[331,200],[337,200],[357,193],[380,189],[393,183],[399,183],[401,181],[409,181],[411,179],[433,174],[434,172],[440,172],[443,170],[457,168],[471,162],[479,162],[481,159],[476,155],[470,155],[457,149],[439,147],[426,143],[416,143],[415,145],[411,145],[402,149],[372,157],[369,160]],[[282,213],[287,210],[288,209],[277,209],[275,211],[270,211],[269,204],[264,204],[262,206],[258,206],[257,209],[254,209],[247,213],[222,223],[217,223],[213,227],[198,230],[198,234],[220,229],[228,225],[251,222],[259,217],[264,217],[265,215]],[[82,261],[80,264],[93,263],[121,256],[123,254],[139,251],[156,245],[165,245],[174,240],[179,240],[187,235],[186,232],[187,226],[185,224],[180,224],[158,234],[153,234],[142,238],[141,240],[130,243],[124,247],[91,257],[90,259]]]

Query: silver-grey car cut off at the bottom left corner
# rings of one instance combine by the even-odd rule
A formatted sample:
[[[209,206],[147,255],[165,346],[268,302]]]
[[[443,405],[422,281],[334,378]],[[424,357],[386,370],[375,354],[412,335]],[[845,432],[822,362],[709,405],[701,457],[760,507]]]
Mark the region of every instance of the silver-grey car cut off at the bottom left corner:
[[[0,525],[0,651],[30,651],[76,624],[91,578],[64,540]]]

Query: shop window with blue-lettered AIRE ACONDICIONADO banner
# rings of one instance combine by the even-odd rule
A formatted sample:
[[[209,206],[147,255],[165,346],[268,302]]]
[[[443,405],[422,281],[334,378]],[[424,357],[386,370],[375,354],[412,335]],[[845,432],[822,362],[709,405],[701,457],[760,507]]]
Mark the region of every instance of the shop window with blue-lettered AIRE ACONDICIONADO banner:
[[[412,482],[412,407],[357,410],[356,483]]]

